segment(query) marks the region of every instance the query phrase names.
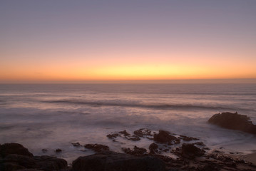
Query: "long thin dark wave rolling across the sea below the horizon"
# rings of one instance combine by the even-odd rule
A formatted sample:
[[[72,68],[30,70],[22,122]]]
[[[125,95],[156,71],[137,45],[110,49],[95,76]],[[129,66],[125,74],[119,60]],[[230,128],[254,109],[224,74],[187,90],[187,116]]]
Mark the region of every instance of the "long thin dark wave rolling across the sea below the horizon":
[[[210,106],[210,105],[190,105],[190,104],[163,104],[163,103],[128,103],[122,101],[86,101],[86,100],[45,100],[44,103],[66,103],[76,105],[91,105],[91,106],[120,106],[120,107],[131,107],[131,108],[155,108],[155,109],[205,109],[205,110],[252,110],[247,108],[230,108],[225,106]]]

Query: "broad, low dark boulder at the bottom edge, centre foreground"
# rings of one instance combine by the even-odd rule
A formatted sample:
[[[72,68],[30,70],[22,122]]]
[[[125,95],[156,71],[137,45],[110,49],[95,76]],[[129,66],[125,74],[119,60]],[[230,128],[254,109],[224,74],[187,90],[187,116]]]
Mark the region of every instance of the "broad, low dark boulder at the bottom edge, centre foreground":
[[[76,171],[164,171],[165,163],[157,157],[135,157],[116,152],[97,153],[73,161]]]

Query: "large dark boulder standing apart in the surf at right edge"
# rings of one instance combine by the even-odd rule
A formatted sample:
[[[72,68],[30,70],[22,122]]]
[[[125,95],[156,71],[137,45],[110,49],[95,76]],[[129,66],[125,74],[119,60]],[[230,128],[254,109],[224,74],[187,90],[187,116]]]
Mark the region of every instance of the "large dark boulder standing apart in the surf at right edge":
[[[222,128],[231,130],[242,130],[246,133],[256,134],[256,125],[252,124],[247,115],[240,115],[238,113],[217,113],[213,115],[208,123],[218,125]]]

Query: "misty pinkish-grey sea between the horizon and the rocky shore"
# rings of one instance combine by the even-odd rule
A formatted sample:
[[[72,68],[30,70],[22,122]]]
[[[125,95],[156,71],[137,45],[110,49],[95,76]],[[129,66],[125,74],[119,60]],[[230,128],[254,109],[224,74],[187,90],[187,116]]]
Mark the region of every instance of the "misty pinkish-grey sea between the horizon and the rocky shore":
[[[34,155],[68,161],[90,151],[71,142],[147,147],[150,141],[114,143],[106,135],[139,128],[200,138],[212,148],[256,150],[256,136],[207,123],[215,113],[237,112],[256,124],[255,84],[23,84],[0,85],[0,143],[19,142]],[[45,154],[41,149],[46,148]]]

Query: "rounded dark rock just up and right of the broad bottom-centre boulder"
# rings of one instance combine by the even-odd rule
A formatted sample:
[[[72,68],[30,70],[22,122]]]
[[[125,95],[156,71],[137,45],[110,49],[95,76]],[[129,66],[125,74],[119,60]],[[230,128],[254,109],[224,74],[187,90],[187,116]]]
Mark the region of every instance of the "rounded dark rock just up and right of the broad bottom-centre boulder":
[[[183,157],[188,157],[188,158],[195,158],[199,157],[205,154],[204,150],[201,150],[198,147],[195,147],[193,144],[186,144],[183,143],[181,147],[181,155]]]

